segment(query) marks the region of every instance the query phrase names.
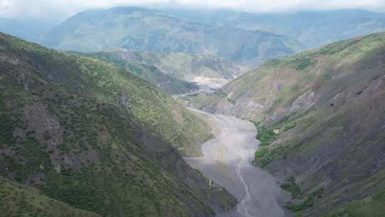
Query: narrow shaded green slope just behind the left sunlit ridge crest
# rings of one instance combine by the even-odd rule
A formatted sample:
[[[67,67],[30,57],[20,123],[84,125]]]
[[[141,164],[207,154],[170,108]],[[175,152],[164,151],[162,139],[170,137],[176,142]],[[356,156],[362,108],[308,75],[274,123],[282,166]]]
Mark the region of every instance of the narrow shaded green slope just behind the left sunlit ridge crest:
[[[145,81],[159,86],[160,89],[163,89],[168,94],[185,94],[190,91],[196,91],[199,89],[199,87],[193,83],[175,79],[175,77],[165,74],[156,66],[150,64],[142,64],[138,61],[126,61],[124,59],[120,59],[112,52],[91,53],[87,54],[87,56],[95,57],[101,61],[108,61],[116,64],[123,69],[133,72],[135,75],[139,76]]]

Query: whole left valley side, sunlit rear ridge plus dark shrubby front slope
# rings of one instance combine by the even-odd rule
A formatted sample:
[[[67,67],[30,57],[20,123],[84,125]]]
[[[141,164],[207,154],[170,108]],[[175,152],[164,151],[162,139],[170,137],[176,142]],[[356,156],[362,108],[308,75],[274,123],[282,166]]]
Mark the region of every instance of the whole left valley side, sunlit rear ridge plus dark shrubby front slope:
[[[5,34],[0,45],[1,175],[101,216],[212,216],[234,204],[152,136],[197,120],[153,85]]]

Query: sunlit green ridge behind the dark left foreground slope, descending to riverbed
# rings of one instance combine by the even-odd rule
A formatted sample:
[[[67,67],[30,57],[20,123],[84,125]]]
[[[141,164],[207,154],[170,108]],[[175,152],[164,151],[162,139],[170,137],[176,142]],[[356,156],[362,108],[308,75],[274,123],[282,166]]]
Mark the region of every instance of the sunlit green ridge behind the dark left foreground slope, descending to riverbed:
[[[176,148],[183,147],[186,155],[199,154],[200,147],[197,144],[211,136],[210,129],[203,121],[133,73],[103,61],[58,53],[34,44],[20,44],[16,39],[11,40],[11,49],[24,52],[46,68],[40,71],[43,76],[51,74],[71,91],[106,103],[116,103],[124,99],[126,109],[133,114],[140,126]],[[71,64],[66,64],[68,62]],[[64,70],[69,71],[66,76],[61,74]]]

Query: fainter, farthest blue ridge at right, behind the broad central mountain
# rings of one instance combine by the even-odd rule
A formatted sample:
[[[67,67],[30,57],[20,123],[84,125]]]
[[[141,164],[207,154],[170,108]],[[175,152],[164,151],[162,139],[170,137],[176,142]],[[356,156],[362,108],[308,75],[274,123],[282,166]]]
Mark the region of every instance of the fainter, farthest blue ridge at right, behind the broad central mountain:
[[[385,14],[361,9],[253,14],[230,10],[164,9],[165,13],[206,24],[269,31],[297,39],[307,48],[385,31]]]

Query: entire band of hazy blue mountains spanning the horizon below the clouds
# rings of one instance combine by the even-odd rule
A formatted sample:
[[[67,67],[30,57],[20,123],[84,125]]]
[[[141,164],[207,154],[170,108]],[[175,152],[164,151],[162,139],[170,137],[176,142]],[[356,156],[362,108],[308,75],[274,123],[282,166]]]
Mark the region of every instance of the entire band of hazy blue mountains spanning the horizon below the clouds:
[[[207,54],[255,67],[277,56],[384,31],[385,15],[359,9],[252,14],[116,7],[82,11],[51,29],[53,24],[43,21],[2,19],[0,24],[1,31],[54,49]]]

